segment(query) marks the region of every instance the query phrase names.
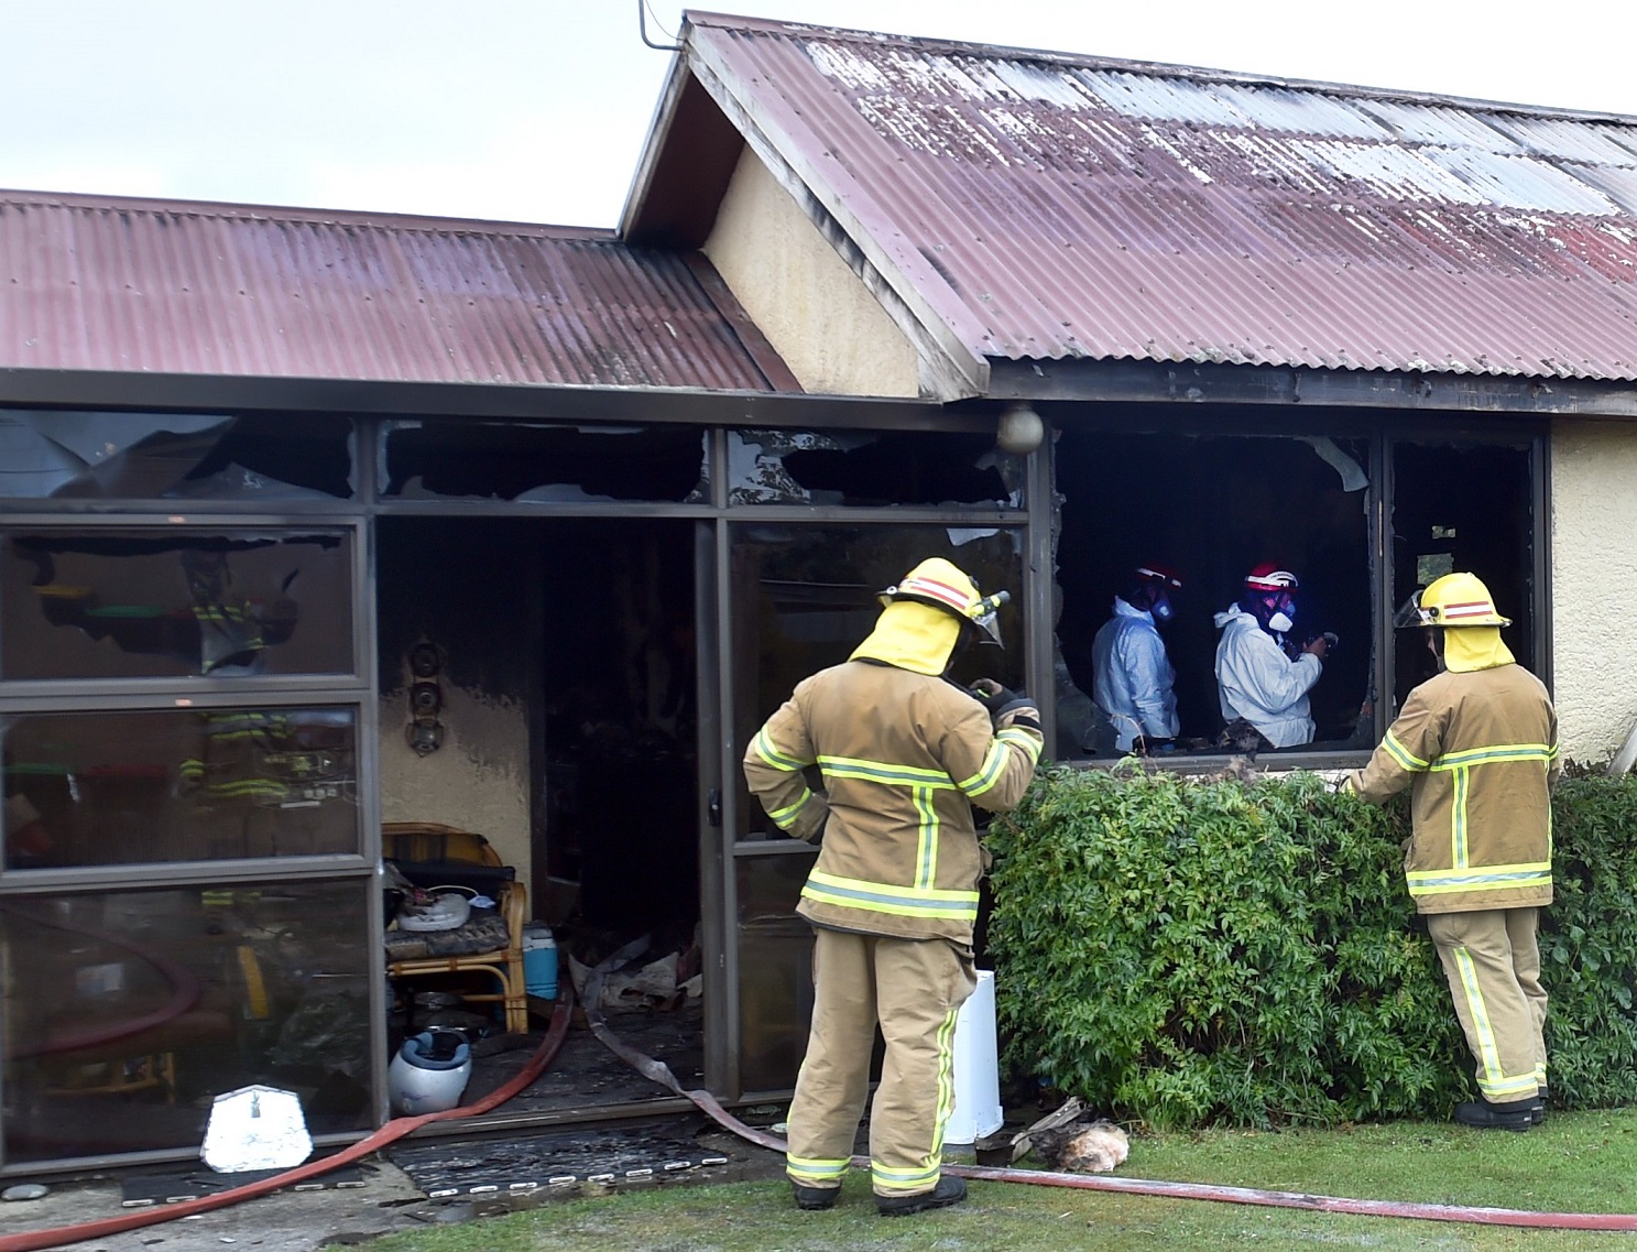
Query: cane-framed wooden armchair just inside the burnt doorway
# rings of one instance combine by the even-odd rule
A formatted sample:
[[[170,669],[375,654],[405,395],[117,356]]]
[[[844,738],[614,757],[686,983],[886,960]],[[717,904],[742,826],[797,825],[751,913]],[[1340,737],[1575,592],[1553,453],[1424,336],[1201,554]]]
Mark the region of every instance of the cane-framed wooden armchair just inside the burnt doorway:
[[[494,898],[499,915],[506,921],[507,934],[506,946],[493,953],[388,961],[386,974],[393,979],[413,979],[426,974],[488,974],[499,984],[498,992],[462,992],[462,998],[503,1003],[506,1007],[506,1029],[527,1034],[529,998],[522,972],[522,926],[529,920],[529,890],[521,882],[503,879],[499,871],[504,871],[506,866],[499,853],[481,835],[458,826],[445,826],[437,822],[388,822],[381,826],[381,856],[398,862],[411,879],[427,872],[429,867],[447,867],[452,884],[463,882],[462,867],[475,876],[465,885],[476,885],[476,877],[488,879],[494,889],[489,890],[485,885],[485,894]],[[483,869],[481,874],[478,867]]]

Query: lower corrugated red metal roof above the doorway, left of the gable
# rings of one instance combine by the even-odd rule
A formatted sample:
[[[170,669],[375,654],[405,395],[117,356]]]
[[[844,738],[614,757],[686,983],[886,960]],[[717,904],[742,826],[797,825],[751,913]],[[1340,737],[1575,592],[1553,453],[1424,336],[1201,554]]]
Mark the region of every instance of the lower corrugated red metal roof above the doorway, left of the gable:
[[[0,191],[0,367],[774,390],[712,277],[604,231]]]

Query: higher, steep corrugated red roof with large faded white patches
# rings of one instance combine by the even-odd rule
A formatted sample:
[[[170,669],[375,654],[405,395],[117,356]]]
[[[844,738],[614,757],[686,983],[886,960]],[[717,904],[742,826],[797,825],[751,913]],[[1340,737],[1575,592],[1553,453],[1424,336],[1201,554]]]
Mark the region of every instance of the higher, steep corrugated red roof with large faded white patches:
[[[704,13],[688,41],[977,358],[1637,378],[1637,119]]]

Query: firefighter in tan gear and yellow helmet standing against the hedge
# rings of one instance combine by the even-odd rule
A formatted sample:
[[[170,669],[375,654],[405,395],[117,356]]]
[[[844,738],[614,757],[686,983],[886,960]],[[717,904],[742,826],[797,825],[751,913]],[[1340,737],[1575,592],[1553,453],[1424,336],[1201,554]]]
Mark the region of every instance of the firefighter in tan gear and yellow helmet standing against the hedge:
[[[1545,1116],[1545,990],[1536,930],[1552,903],[1550,789],[1560,772],[1545,686],[1501,642],[1488,588],[1445,574],[1406,606],[1439,673],[1409,692],[1344,787],[1380,804],[1411,786],[1405,871],[1477,1059],[1455,1119],[1527,1131]]]

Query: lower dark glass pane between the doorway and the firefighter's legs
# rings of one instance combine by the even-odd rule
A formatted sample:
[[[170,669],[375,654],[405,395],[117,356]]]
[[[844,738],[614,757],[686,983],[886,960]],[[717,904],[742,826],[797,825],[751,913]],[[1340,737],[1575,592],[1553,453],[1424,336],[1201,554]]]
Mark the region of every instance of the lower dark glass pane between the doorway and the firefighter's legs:
[[[796,1085],[814,1011],[814,931],[796,915],[812,856],[742,856],[738,877],[740,1085]]]

